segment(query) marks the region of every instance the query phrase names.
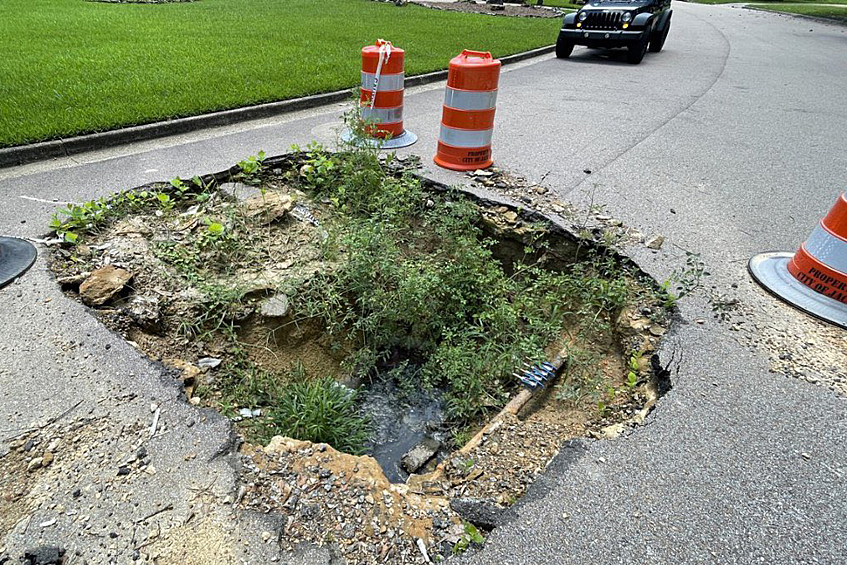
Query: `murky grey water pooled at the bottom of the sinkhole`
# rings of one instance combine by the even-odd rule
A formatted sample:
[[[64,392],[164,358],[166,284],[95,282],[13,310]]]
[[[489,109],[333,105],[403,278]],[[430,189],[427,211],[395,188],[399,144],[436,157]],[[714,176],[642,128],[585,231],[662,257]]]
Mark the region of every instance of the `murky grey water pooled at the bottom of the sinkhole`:
[[[361,393],[361,408],[373,422],[366,453],[377,460],[393,483],[405,482],[409,474],[400,462],[403,455],[426,436],[445,443],[447,434],[439,431],[444,420],[438,391],[401,391],[392,380],[375,380]],[[441,451],[436,458],[441,457]]]

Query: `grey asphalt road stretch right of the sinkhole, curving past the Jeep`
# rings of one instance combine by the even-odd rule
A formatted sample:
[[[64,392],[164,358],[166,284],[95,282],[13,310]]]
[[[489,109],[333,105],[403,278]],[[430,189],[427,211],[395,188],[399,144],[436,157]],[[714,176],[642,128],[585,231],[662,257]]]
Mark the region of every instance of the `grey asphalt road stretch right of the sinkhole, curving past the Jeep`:
[[[674,12],[665,50],[638,67],[577,50],[522,70],[540,110],[498,116],[499,163],[667,237],[662,253],[630,250],[659,280],[700,253],[707,290],[743,313],[722,324],[707,294],[684,300],[666,347],[675,387],[649,423],[566,450],[470,562],[847,562],[847,402],[771,371],[811,348],[844,377],[847,334],[745,272],[757,252],[795,250],[847,188],[847,28]]]

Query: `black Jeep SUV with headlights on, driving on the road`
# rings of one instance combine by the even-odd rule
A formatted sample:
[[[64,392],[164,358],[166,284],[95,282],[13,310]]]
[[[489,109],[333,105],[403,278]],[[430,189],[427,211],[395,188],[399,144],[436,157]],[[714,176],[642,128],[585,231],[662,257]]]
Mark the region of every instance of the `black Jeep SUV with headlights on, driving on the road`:
[[[588,0],[565,15],[556,56],[570,57],[574,45],[601,49],[626,47],[628,63],[637,65],[649,47],[662,50],[671,28],[671,0]]]

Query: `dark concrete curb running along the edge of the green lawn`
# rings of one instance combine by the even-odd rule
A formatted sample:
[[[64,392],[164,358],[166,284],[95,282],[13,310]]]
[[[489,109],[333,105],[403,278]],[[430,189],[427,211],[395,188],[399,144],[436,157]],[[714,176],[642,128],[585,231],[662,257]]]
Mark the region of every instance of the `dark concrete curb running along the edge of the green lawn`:
[[[515,53],[514,55],[502,57],[500,58],[500,61],[502,61],[504,65],[509,65],[526,59],[531,59],[533,57],[538,57],[540,55],[546,55],[547,53],[551,53],[554,48],[555,47],[553,45],[548,45],[546,47],[532,49],[531,51],[524,51],[522,53]],[[438,82],[446,78],[446,70],[435,71],[407,77],[406,86],[420,86],[422,84]],[[33,161],[39,161],[42,159],[66,157],[83,153],[85,151],[105,149],[136,141],[145,141],[158,137],[188,133],[205,128],[270,118],[280,114],[295,112],[297,110],[317,108],[318,106],[348,100],[351,96],[350,91],[351,89],[337,90],[335,92],[326,92],[323,94],[304,96],[302,98],[292,98],[290,100],[269,102],[267,104],[258,104],[256,106],[245,106],[243,108],[234,108],[232,110],[200,114],[199,116],[177,118],[163,122],[154,122],[140,126],[131,126],[127,128],[91,133],[87,135],[69,137],[67,139],[54,139],[30,145],[7,147],[0,149],[0,168],[24,165],[26,163],[32,163]]]

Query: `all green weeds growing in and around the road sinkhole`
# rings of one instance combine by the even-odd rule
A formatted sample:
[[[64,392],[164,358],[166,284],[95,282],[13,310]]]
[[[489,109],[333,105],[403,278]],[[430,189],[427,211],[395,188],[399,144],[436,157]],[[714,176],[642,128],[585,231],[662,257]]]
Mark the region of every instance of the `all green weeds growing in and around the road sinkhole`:
[[[327,230],[321,250],[333,266],[286,289],[298,315],[292,323],[318,320],[338,342],[352,343],[343,364],[350,373],[375,375],[396,354],[414,359],[419,370],[395,371],[395,378],[402,381],[402,374],[409,379],[398,382],[400,388],[446,391],[448,415],[455,429],[462,430],[457,443],[466,441],[470,424],[505,404],[518,386],[513,373],[524,362],[541,360],[545,348],[562,339],[570,345],[558,397],[603,401],[607,385],[590,343],[607,340],[620,309],[649,292],[615,257],[583,249],[580,261],[551,269],[547,257],[555,250],[545,230],[526,226],[523,249],[508,260],[498,259],[496,241],[483,229],[484,210],[460,192],[425,190],[409,174],[389,173],[391,159],[381,163],[376,149],[366,146],[329,153],[311,145],[300,156],[286,182],[332,208],[331,218],[321,222]],[[237,176],[264,189],[264,168],[260,154],[242,161]],[[51,226],[66,240],[73,234],[76,241],[135,212],[149,218],[153,211],[169,222],[180,221],[182,210],[224,198],[212,193],[213,187],[198,177],[174,179],[72,206],[64,222],[57,216]],[[267,418],[243,424],[254,438],[280,433],[328,438],[323,431],[316,435],[315,430],[323,429],[319,423],[292,419],[292,407],[323,399],[338,408],[327,416],[329,421],[358,429],[358,415],[347,411],[346,401],[332,397],[337,387],[329,389],[326,379],[314,385],[317,389],[302,388],[311,381],[258,368],[244,352],[246,345],[238,342],[241,313],[251,299],[230,275],[237,275],[239,265],[268,260],[261,238],[269,232],[262,230],[272,229],[250,224],[239,210],[234,203],[213,206],[198,213],[205,214],[203,224],[185,232],[188,237],[151,246],[199,291],[196,315],[186,317],[183,335],[204,340],[218,335],[229,344],[230,360],[215,383],[224,412],[262,408]],[[703,269],[700,263],[694,268],[699,274],[677,277],[682,286],[696,286]],[[685,282],[691,277],[697,281]],[[292,382],[303,384],[289,388]],[[289,390],[298,396],[287,396]],[[307,429],[312,431],[307,434]],[[359,436],[351,432],[350,437]],[[318,441],[355,450],[331,437]]]

